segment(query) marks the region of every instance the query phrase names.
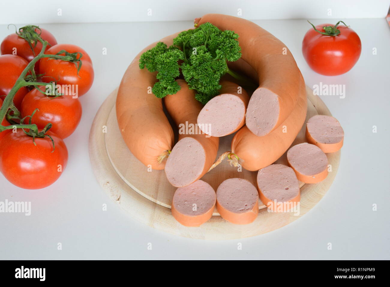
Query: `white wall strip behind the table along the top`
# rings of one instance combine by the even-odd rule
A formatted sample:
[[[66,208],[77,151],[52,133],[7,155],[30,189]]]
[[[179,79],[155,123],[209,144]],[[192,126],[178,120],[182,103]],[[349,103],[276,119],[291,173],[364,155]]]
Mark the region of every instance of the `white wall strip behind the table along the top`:
[[[389,8],[388,0],[2,0],[1,3],[0,24],[7,25],[186,21],[207,13],[237,16],[238,9],[242,17],[249,20],[341,20],[385,18]],[[332,10],[330,16],[328,9]]]

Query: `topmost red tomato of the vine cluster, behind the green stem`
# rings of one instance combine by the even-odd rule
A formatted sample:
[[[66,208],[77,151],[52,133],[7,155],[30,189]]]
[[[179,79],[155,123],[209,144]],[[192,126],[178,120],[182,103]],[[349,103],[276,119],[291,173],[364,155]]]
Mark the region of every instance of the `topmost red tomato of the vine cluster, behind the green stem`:
[[[35,29],[35,32],[39,34],[39,29]],[[48,30],[41,28],[41,38],[45,41],[48,41],[48,43],[50,44],[47,46],[46,50],[50,48],[50,46],[57,45],[55,37]],[[34,43],[32,43],[32,46],[34,47]],[[14,50],[15,48],[16,50]],[[28,45],[28,42],[22,37],[19,37],[16,33],[5,37],[0,45],[0,51],[2,55],[18,55],[23,59],[27,60],[28,62],[31,62],[31,60],[34,59],[34,57],[38,55],[39,52],[41,52],[41,50],[42,44],[38,41],[37,45],[34,47],[33,53],[30,45]],[[35,71],[39,71],[39,61],[35,64]]]

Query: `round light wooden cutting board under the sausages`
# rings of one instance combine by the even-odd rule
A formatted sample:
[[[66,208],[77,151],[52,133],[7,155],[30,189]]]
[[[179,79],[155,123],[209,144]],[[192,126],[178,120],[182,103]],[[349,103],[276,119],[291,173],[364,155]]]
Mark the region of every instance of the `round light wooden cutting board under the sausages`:
[[[99,184],[106,193],[138,221],[176,235],[210,240],[237,239],[259,235],[289,224],[303,216],[321,200],[333,182],[340,162],[340,151],[328,153],[331,170],[328,177],[318,184],[303,184],[299,214],[294,212],[268,212],[259,200],[259,216],[248,225],[234,225],[225,221],[215,209],[209,221],[200,227],[185,227],[171,214],[172,197],[176,187],[170,185],[163,170],[148,171],[128,150],[124,143],[115,113],[117,89],[101,105],[92,123],[89,136],[89,153],[92,168]],[[331,116],[322,100],[307,87],[307,119],[324,114]],[[306,122],[292,145],[303,143]],[[218,156],[230,150],[233,135],[220,138]],[[277,163],[286,164],[284,154]],[[227,160],[216,166],[201,179],[215,190],[223,180],[232,177],[246,178],[256,185],[257,172],[238,171]]]

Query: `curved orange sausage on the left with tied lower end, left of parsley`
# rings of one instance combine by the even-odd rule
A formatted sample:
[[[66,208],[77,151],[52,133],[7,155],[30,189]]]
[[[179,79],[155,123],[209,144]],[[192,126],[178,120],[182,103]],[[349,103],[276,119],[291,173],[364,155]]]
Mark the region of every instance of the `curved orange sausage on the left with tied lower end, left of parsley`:
[[[172,45],[178,33],[160,40]],[[157,81],[156,73],[139,68],[142,53],[156,46],[155,42],[142,50],[131,62],[119,86],[116,112],[119,130],[130,152],[145,166],[164,169],[158,157],[172,149],[174,133],[163,111],[162,101],[151,93]]]

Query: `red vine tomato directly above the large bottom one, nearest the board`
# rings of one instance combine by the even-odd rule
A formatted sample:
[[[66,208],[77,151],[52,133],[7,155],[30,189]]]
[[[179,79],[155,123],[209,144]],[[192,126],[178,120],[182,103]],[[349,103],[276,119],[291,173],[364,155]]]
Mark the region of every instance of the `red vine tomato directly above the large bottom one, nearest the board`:
[[[41,91],[46,91],[43,86],[39,88]],[[59,92],[62,93],[61,90]],[[39,129],[52,123],[53,127],[50,130],[62,139],[74,132],[82,115],[81,103],[77,98],[66,95],[53,98],[42,94],[37,89],[32,89],[24,97],[20,112],[22,117],[25,117],[31,115],[35,109],[39,111],[35,112],[31,123],[35,123]],[[28,118],[25,123],[28,123]]]

